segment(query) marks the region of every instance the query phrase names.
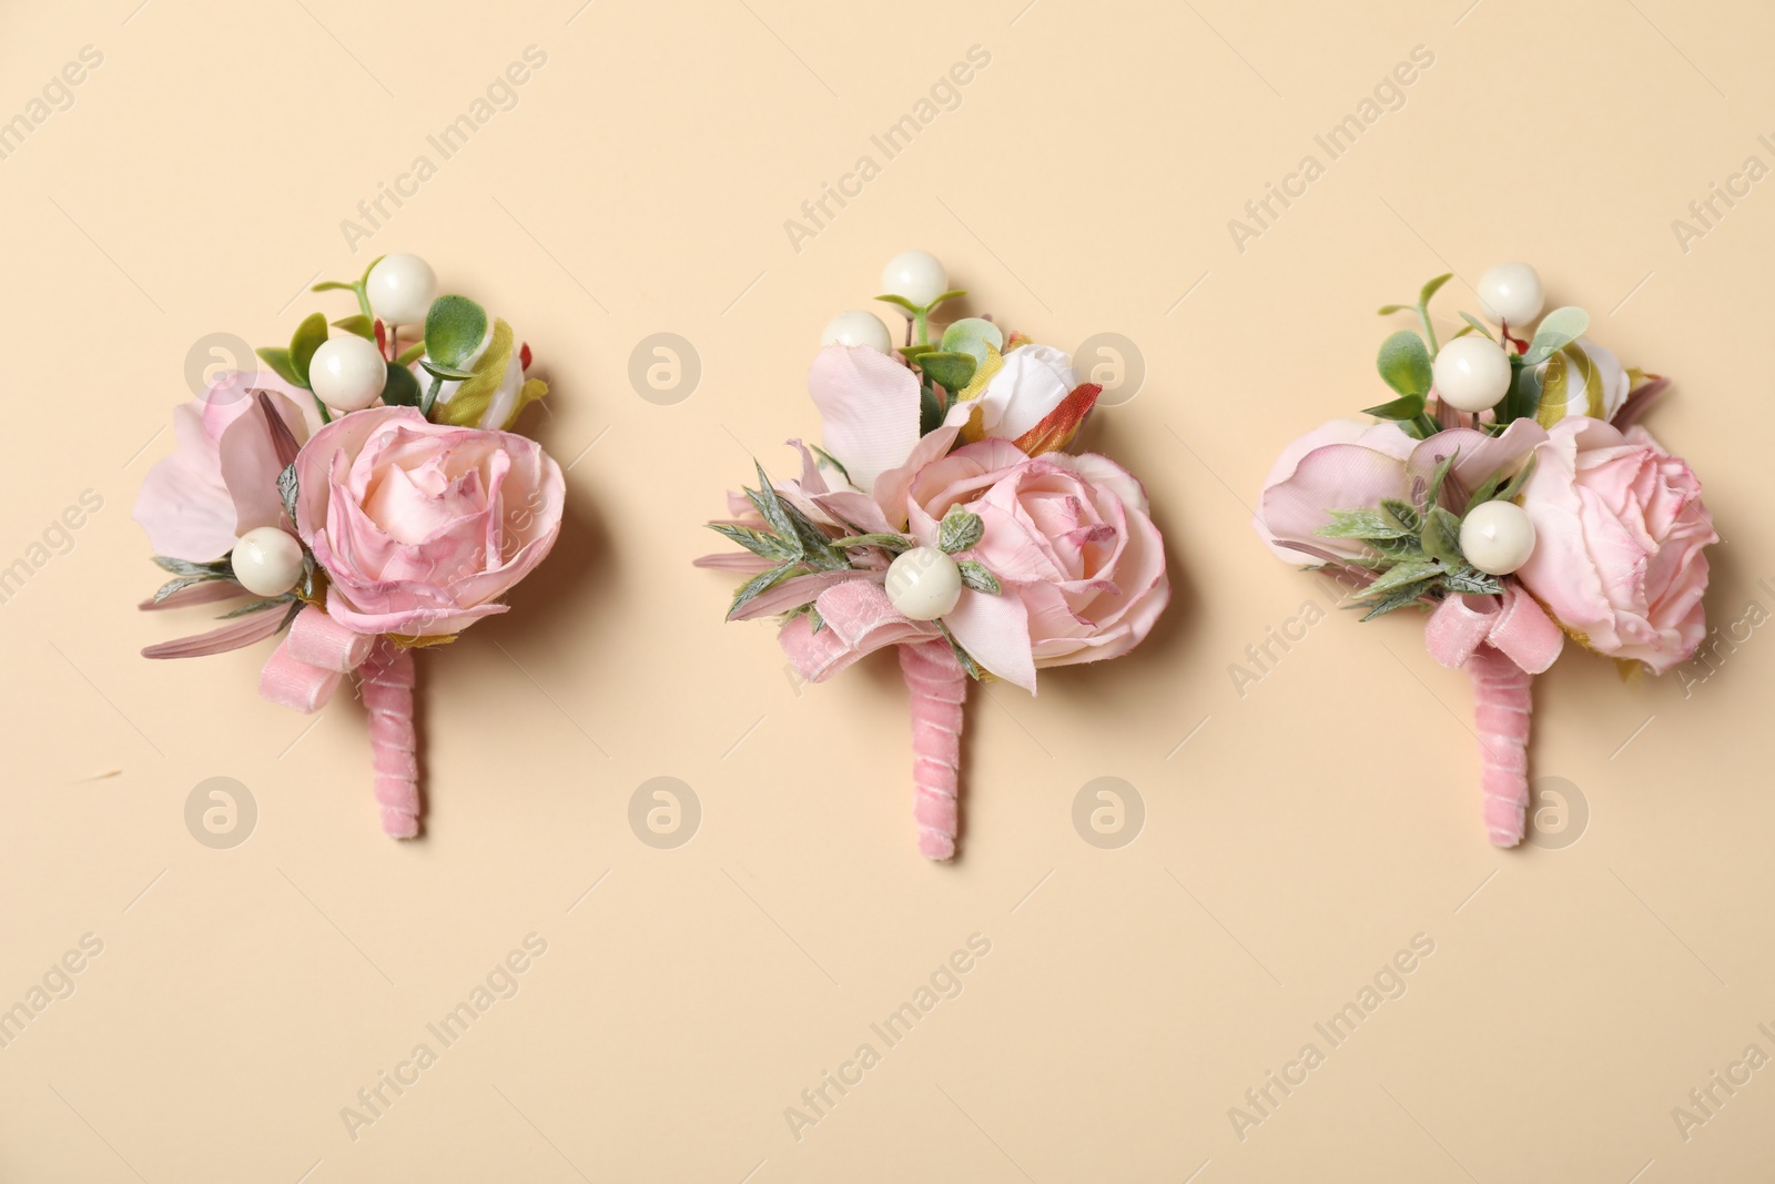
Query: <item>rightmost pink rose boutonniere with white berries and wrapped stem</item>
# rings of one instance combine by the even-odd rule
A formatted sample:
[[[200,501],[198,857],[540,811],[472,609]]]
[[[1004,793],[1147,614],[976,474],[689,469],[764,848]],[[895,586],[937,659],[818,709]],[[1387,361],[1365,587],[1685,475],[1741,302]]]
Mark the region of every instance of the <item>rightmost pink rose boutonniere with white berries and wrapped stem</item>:
[[[1583,309],[1541,316],[1525,263],[1480,277],[1496,332],[1463,312],[1438,348],[1429,302],[1448,279],[1381,309],[1424,330],[1381,344],[1397,398],[1367,408],[1376,424],[1333,419],[1283,449],[1255,525],[1282,559],[1315,559],[1365,621],[1429,609],[1431,657],[1473,680],[1486,829],[1514,847],[1534,675],[1567,637],[1624,675],[1693,657],[1718,534],[1688,463],[1638,426],[1667,378],[1585,337]]]

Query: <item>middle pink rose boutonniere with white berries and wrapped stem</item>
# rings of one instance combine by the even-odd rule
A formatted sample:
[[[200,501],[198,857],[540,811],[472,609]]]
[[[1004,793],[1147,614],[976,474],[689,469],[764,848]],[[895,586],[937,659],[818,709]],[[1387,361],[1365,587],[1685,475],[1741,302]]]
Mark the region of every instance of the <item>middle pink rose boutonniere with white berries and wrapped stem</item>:
[[[1100,387],[990,318],[937,334],[930,314],[966,293],[927,252],[896,256],[882,284],[905,344],[873,312],[827,327],[808,373],[820,446],[790,440],[799,478],[760,465],[758,488],[730,493],[733,517],[710,527],[746,550],[696,563],[747,573],[728,620],[777,618],[809,682],[898,651],[918,849],[950,859],[967,680],[1035,694],[1037,669],[1127,653],[1170,582],[1141,485],[1065,451]]]

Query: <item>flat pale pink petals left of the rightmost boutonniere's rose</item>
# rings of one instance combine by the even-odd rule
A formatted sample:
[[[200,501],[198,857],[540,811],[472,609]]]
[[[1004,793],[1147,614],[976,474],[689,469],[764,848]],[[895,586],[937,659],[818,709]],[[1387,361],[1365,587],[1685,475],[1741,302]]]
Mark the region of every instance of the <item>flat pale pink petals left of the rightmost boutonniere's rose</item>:
[[[1422,501],[1413,497],[1413,485],[1427,483],[1445,456],[1456,458],[1448,467],[1454,485],[1475,490],[1500,469],[1514,472],[1542,442],[1546,430],[1532,419],[1518,419],[1495,437],[1473,428],[1450,428],[1427,440],[1408,437],[1392,421],[1360,424],[1333,419],[1282,451],[1264,481],[1251,525],[1271,552],[1289,563],[1314,563],[1314,556],[1278,543],[1306,543],[1319,552],[1356,559],[1372,554],[1360,540],[1314,533],[1331,522],[1329,511],[1374,509],[1384,499]],[[1464,509],[1464,495],[1450,508]]]

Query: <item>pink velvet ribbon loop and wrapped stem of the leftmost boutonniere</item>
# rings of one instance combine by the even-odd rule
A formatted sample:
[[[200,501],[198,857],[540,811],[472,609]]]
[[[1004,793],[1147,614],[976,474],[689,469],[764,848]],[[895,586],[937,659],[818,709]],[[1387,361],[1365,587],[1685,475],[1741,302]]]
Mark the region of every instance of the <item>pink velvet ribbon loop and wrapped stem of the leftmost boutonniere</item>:
[[[259,694],[311,714],[327,706],[351,671],[362,671],[364,680],[382,831],[392,838],[414,838],[419,834],[419,747],[414,735],[412,651],[387,635],[350,630],[325,609],[307,605],[264,660]]]

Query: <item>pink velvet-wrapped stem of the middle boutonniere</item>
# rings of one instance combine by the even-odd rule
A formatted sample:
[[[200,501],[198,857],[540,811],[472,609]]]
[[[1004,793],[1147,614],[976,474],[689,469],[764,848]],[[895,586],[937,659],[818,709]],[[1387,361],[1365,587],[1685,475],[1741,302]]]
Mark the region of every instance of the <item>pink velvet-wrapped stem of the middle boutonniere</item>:
[[[912,817],[918,820],[918,852],[927,859],[953,859],[967,675],[955,659],[955,650],[941,637],[903,643],[898,650],[900,675],[912,696]]]

